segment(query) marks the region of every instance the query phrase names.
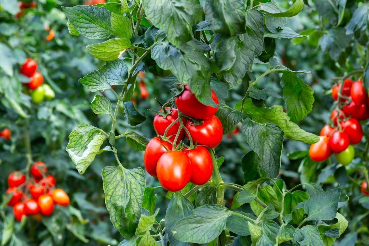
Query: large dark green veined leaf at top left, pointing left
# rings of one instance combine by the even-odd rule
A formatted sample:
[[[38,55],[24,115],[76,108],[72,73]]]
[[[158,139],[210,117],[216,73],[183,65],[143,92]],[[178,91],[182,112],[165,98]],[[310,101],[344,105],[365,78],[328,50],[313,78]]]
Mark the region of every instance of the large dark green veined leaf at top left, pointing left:
[[[109,38],[113,34],[110,12],[104,7],[77,5],[62,9],[73,27],[86,38]]]

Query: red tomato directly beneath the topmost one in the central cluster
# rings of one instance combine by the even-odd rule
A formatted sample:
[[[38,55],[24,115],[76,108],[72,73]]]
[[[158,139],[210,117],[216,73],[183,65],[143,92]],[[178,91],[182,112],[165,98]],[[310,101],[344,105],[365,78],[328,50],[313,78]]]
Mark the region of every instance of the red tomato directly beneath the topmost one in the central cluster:
[[[223,138],[222,123],[216,116],[204,120],[202,125],[194,125],[188,121],[186,128],[190,132],[194,143],[209,146],[209,149],[218,146]]]

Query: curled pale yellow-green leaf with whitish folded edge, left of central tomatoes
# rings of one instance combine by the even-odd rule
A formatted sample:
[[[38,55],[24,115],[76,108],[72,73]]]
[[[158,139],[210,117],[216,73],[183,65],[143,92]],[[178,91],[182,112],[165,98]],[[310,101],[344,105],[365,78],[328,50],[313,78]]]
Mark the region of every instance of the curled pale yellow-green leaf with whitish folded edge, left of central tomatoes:
[[[99,152],[105,139],[102,132],[99,128],[85,124],[77,126],[70,133],[65,150],[80,174],[86,171]]]

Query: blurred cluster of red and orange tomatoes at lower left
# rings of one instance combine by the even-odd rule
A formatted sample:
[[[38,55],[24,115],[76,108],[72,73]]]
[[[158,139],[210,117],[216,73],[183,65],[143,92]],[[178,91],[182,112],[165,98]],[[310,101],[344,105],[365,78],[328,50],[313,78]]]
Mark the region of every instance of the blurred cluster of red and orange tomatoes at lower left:
[[[55,204],[67,206],[70,203],[68,194],[60,188],[55,188],[54,176],[47,175],[44,162],[32,164],[31,178],[20,171],[14,171],[8,176],[6,193],[11,194],[8,205],[13,207],[15,219],[21,221],[23,216],[32,215],[35,219],[42,219],[42,215],[51,215]]]

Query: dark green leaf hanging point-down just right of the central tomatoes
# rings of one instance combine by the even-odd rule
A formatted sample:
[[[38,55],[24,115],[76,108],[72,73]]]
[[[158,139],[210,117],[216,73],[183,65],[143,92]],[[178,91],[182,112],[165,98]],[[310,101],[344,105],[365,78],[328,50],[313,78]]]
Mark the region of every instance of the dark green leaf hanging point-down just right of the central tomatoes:
[[[259,167],[270,177],[278,177],[283,147],[282,129],[271,122],[259,124],[247,118],[242,123],[241,132],[251,149],[260,157]]]

